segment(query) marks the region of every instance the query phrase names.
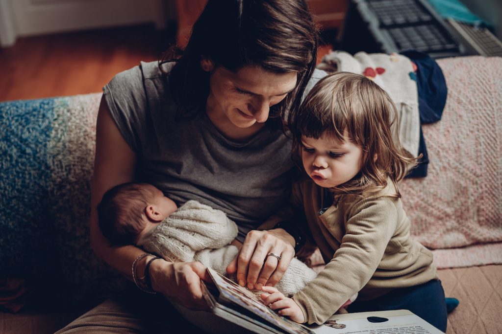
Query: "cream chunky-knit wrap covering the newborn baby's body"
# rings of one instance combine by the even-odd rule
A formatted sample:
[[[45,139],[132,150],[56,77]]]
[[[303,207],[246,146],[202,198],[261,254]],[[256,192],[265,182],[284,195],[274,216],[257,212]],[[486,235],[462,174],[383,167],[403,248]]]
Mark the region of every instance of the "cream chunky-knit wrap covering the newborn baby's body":
[[[222,211],[188,201],[142,237],[138,245],[171,262],[199,261],[235,281],[235,275],[229,276],[226,267],[239,252],[237,247],[229,245],[236,236],[237,225]],[[316,275],[305,263],[293,258],[275,287],[291,296]]]

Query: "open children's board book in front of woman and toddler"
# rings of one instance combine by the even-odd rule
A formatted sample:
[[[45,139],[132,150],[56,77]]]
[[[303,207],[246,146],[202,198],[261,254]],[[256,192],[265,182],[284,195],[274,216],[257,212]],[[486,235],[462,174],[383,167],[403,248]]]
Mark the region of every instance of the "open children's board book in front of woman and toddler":
[[[207,271],[214,286],[201,285],[211,312],[256,333],[442,333],[408,310],[335,314],[325,324],[307,327],[277,314],[261,298],[213,269]]]

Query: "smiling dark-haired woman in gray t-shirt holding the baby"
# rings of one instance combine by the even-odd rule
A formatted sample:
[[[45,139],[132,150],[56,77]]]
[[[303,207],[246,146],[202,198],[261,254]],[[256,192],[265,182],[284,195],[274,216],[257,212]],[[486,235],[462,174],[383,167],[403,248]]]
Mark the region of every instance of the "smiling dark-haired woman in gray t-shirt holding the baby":
[[[282,116],[322,76],[311,80],[316,49],[304,0],[210,0],[179,59],[115,76],[103,88],[97,118],[95,252],[129,279],[143,276],[152,257],[141,257],[145,252],[135,246],[108,246],[95,207],[117,184],[147,182],[178,205],[196,199],[224,211],[239,226],[237,239],[245,238],[229,270],[241,285],[275,284],[294,256],[295,238],[282,228],[256,229],[288,200],[293,163]],[[201,263],[150,264],[151,284],[143,289],[191,309],[205,307]],[[142,312],[152,305],[165,310],[164,300],[134,294],[105,301],[61,332],[113,331],[117,321],[133,331],[157,331],[148,327],[152,313]]]

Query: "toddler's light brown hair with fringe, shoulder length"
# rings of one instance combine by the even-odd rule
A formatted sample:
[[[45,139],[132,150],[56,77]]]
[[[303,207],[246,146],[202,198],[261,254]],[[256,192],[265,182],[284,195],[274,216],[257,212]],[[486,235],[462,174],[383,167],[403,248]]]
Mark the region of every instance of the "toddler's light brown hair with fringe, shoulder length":
[[[335,194],[370,195],[395,185],[416,165],[399,142],[396,106],[389,94],[368,78],[337,72],[324,77],[309,92],[296,113],[289,115],[294,160],[301,161],[301,136],[318,139],[327,135],[362,149],[361,171],[351,180],[333,187]],[[301,165],[300,165],[301,166]]]

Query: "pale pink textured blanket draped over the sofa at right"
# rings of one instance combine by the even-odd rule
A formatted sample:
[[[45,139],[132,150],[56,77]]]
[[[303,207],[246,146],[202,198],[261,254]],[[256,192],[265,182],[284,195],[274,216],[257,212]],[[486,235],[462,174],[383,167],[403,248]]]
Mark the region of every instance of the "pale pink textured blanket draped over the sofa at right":
[[[428,176],[400,185],[411,234],[439,268],[502,263],[502,58],[438,64],[448,98],[423,126]]]

